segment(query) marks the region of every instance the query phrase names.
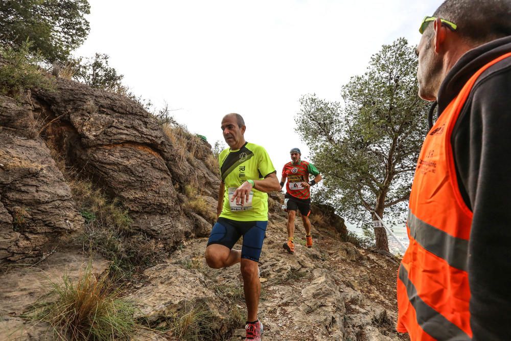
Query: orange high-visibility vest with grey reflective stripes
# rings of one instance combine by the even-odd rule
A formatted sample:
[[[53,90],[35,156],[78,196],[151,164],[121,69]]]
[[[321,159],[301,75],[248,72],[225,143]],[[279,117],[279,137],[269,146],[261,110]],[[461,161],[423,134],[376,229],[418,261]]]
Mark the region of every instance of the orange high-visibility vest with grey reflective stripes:
[[[428,132],[415,169],[398,272],[399,332],[416,340],[470,340],[468,244],[472,212],[458,188],[451,134],[478,70]]]

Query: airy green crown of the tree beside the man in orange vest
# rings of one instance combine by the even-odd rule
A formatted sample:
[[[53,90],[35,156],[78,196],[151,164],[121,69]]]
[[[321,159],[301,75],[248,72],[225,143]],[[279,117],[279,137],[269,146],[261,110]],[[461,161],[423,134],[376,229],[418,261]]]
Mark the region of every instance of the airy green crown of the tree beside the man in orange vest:
[[[400,38],[342,87],[344,105],[315,95],[300,99],[298,131],[325,178],[316,200],[351,222],[370,222],[365,213],[373,210],[399,215],[405,208],[427,133],[416,70],[417,57]]]

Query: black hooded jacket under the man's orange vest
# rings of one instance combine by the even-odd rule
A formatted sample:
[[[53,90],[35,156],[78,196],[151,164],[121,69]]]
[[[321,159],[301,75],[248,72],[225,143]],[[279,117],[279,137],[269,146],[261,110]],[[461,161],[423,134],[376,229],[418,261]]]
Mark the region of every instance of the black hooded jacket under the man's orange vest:
[[[482,66],[511,52],[511,36],[464,54],[438,92],[441,113]],[[511,57],[484,71],[464,104],[451,144],[469,241],[473,340],[511,339]]]

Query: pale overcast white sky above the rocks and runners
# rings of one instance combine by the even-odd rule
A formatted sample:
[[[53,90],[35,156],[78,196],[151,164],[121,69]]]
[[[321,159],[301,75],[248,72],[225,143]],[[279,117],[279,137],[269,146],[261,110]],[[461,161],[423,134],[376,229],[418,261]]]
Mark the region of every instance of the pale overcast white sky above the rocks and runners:
[[[166,101],[179,123],[222,140],[229,112],[245,118],[247,141],[263,145],[280,174],[301,95],[341,100],[382,44],[419,42],[419,25],[442,0],[89,0],[90,34],[75,54],[106,53],[133,93]],[[320,170],[321,171],[321,170]]]

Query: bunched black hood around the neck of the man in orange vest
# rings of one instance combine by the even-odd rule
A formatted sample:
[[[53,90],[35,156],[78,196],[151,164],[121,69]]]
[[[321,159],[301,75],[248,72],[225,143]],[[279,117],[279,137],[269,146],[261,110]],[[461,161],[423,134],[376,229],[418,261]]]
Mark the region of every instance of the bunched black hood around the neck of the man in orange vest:
[[[454,64],[438,90],[438,115],[451,103],[465,83],[482,66],[511,51],[511,36],[492,40],[467,51]]]

